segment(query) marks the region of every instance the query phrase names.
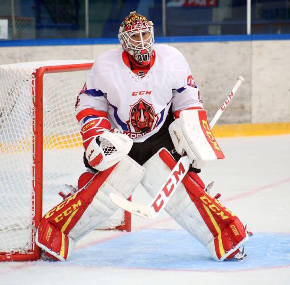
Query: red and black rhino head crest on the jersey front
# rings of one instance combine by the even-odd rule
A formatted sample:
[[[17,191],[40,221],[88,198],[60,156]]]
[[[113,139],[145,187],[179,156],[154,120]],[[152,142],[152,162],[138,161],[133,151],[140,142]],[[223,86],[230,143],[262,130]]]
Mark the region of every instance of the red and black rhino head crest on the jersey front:
[[[134,128],[136,135],[140,136],[151,132],[156,127],[158,116],[152,104],[140,99],[137,103],[130,105],[130,107],[130,119],[127,121],[127,125],[131,132]]]

